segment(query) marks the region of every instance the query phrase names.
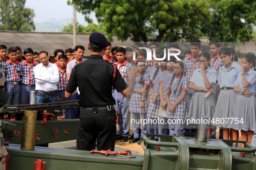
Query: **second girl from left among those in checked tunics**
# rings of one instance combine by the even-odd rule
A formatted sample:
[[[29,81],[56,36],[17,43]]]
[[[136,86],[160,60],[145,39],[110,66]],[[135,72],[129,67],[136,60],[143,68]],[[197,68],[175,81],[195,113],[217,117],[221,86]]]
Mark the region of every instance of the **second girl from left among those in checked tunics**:
[[[152,62],[154,60],[152,59]],[[152,74],[149,75],[150,95],[149,106],[147,110],[147,119],[149,124],[147,126],[149,134],[158,134],[158,111],[160,107],[159,89],[160,89],[160,72],[163,72],[165,67],[160,66],[152,67]],[[158,140],[158,138],[150,138],[152,140]]]

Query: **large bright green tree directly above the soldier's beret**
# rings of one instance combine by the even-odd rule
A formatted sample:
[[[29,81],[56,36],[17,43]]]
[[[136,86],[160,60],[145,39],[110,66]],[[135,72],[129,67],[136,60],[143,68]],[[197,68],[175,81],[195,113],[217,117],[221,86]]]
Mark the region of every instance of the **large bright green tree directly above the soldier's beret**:
[[[71,4],[68,1],[68,4]],[[155,41],[162,41],[166,33],[180,31],[186,25],[200,24],[202,19],[210,20],[207,0],[72,0],[79,12],[88,19],[94,11],[99,23],[106,27],[109,38],[116,35],[125,41],[133,36],[133,41],[148,41],[147,35],[154,34]],[[180,34],[172,34],[179,39]]]

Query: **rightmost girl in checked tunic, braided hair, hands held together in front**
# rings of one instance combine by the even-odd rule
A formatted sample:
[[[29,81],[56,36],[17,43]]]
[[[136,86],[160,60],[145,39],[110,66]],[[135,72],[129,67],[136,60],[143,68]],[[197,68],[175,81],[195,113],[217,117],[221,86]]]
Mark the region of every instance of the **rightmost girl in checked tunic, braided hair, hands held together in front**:
[[[167,118],[174,120],[169,124],[169,135],[184,136],[183,123],[178,119],[185,120],[186,102],[185,97],[188,90],[188,79],[183,76],[184,64],[178,61],[174,65],[174,74],[166,90],[166,102],[168,104]]]

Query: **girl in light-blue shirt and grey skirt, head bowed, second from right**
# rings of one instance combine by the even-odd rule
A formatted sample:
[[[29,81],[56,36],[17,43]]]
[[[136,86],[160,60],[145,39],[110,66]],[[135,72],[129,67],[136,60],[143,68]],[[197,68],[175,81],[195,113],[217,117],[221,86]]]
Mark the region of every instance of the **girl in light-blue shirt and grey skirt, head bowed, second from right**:
[[[214,125],[223,128],[223,139],[230,138],[231,121],[225,122],[225,118],[233,117],[233,107],[237,93],[233,91],[234,83],[241,72],[241,66],[233,61],[233,54],[230,48],[220,49],[220,58],[224,66],[220,67],[219,80],[216,87],[217,104],[214,112]]]

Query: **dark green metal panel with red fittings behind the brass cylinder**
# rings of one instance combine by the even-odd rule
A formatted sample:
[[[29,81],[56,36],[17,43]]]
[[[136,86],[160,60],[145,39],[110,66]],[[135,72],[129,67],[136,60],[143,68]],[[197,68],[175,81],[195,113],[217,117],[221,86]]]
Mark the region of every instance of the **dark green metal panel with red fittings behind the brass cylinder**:
[[[79,119],[36,121],[36,145],[77,139],[78,123]],[[23,121],[4,120],[2,126],[5,142],[21,143]]]

